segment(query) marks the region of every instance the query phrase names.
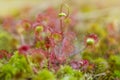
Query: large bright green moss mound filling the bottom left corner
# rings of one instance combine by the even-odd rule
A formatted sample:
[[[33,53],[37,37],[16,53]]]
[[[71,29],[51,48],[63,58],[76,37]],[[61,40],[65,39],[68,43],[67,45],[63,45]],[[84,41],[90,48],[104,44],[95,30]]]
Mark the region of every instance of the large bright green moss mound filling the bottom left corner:
[[[22,77],[27,77],[31,73],[32,70],[26,58],[15,52],[9,62],[1,66],[0,80],[22,79]]]

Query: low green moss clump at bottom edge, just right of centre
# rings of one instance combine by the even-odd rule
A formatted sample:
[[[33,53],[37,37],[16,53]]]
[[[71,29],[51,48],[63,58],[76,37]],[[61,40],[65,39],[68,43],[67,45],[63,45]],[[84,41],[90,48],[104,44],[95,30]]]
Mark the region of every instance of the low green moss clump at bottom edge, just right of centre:
[[[70,66],[62,66],[57,72],[57,78],[60,80],[82,80],[82,72],[74,70]]]

